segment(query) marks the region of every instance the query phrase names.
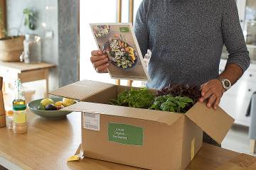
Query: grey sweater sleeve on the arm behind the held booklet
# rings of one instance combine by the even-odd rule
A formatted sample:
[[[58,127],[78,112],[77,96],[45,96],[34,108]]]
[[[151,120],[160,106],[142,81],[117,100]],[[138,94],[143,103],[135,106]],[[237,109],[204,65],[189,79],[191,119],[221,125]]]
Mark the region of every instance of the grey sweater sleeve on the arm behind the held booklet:
[[[139,43],[140,50],[142,51],[142,56],[146,55],[149,46],[149,33],[147,30],[146,22],[146,1],[142,1],[137,11],[134,32]]]

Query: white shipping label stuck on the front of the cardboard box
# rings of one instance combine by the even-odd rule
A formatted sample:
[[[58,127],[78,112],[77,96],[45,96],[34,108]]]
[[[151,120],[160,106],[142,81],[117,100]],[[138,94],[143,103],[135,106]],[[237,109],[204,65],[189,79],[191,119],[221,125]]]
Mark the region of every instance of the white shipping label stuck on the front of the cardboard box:
[[[83,113],[83,128],[88,130],[100,130],[100,114]]]

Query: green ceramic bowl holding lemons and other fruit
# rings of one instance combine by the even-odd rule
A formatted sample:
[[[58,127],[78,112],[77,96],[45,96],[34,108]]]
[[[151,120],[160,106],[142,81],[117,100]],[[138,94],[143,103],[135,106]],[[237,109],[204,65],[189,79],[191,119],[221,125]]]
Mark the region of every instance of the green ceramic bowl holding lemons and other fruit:
[[[63,98],[51,98],[54,102],[62,101]],[[38,106],[40,106],[40,102],[43,98],[38,99],[36,101],[31,101],[28,103],[28,108],[31,112],[35,113],[36,115],[41,116],[42,118],[48,119],[61,119],[66,118],[66,115],[71,113],[70,111],[41,111],[37,110]]]

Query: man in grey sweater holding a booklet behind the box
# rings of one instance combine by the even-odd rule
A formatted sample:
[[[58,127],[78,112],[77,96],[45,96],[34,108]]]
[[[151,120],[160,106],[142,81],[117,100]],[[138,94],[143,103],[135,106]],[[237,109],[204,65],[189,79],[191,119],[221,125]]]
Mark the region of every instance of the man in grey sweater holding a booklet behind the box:
[[[151,50],[147,86],[201,86],[199,101],[206,101],[208,108],[217,109],[223,93],[250,64],[235,0],[144,0],[134,31],[142,55]],[[223,45],[229,55],[219,74]],[[97,72],[107,72],[102,51],[92,51],[90,60]],[[206,134],[203,140],[218,145]]]

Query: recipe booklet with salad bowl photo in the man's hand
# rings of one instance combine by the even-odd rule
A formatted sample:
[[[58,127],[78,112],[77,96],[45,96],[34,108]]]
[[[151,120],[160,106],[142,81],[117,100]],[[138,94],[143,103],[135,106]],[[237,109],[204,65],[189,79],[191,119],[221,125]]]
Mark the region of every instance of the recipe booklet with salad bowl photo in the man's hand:
[[[112,79],[149,80],[132,23],[90,23],[97,47],[109,57]]]

